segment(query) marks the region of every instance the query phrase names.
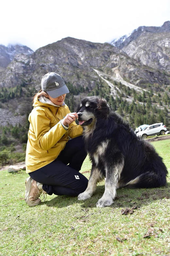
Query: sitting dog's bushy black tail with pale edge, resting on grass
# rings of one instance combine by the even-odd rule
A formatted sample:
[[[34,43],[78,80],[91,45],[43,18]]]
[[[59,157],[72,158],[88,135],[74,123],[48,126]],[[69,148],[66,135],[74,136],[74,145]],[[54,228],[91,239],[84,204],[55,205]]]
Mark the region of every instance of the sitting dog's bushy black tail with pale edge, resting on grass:
[[[161,187],[164,185],[166,185],[166,174],[163,172],[145,172],[125,184],[126,187],[131,188]]]

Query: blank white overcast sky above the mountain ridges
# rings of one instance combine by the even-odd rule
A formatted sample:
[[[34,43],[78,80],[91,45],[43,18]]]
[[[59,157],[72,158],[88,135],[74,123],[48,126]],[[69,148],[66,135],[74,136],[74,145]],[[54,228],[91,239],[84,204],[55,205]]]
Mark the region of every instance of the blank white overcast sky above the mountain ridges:
[[[34,51],[67,36],[110,42],[170,20],[169,0],[2,0],[0,8],[0,44]]]

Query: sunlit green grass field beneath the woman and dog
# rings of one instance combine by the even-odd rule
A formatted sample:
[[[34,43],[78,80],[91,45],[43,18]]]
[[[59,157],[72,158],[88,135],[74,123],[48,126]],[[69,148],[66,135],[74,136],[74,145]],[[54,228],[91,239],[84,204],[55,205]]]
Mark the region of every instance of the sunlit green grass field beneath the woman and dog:
[[[170,174],[170,140],[152,143]],[[81,172],[89,178],[91,163]],[[154,189],[118,189],[115,203],[96,208],[98,183],[87,201],[47,196],[26,205],[25,171],[0,172],[0,255],[170,255],[170,175]]]

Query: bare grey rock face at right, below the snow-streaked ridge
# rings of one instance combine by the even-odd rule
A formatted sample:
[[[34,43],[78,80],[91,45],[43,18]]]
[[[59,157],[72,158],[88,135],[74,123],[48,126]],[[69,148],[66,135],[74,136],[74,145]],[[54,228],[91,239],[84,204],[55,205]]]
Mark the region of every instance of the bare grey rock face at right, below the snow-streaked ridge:
[[[170,75],[170,32],[144,32],[123,47],[130,58]]]

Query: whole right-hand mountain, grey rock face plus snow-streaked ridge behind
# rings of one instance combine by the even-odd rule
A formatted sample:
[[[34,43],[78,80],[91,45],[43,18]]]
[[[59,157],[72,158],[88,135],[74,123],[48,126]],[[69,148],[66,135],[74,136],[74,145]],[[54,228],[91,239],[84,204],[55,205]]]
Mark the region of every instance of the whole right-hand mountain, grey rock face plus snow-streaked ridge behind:
[[[137,62],[170,75],[170,21],[161,27],[139,27],[111,44]]]

